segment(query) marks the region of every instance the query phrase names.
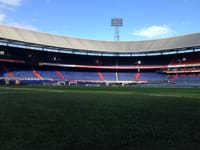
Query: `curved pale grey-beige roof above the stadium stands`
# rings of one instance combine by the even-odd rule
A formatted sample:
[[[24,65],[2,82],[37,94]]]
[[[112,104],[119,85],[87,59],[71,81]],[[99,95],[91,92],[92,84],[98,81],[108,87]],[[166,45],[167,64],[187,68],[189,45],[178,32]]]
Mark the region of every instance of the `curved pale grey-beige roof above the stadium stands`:
[[[138,53],[200,47],[200,33],[148,41],[97,41],[0,25],[0,39],[98,52]]]

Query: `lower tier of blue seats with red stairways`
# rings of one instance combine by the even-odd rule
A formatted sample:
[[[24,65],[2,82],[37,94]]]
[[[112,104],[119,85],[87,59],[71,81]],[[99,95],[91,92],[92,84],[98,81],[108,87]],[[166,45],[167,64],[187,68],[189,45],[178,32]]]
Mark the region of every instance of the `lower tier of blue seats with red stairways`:
[[[172,76],[157,72],[99,72],[99,71],[70,71],[70,70],[26,70],[19,68],[0,67],[0,77],[6,78],[38,78],[55,80],[91,80],[91,81],[169,81]],[[12,75],[12,76],[11,76]],[[177,76],[179,80],[200,80],[200,76]],[[174,81],[174,80],[173,80]]]

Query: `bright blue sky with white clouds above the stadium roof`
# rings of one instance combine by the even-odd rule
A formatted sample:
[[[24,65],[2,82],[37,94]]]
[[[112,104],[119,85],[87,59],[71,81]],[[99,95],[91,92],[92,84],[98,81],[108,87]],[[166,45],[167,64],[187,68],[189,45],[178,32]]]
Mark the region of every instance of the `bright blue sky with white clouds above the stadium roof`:
[[[121,40],[200,32],[200,0],[0,0],[0,24],[71,37],[113,40],[112,17]]]

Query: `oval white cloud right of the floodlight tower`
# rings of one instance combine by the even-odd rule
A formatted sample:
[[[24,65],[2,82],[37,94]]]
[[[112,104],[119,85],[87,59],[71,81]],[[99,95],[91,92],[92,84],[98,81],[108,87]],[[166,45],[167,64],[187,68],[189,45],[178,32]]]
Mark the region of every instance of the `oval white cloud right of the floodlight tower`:
[[[174,30],[167,25],[154,25],[150,27],[144,27],[142,29],[136,30],[133,35],[152,39],[152,38],[162,38],[171,36],[174,34]]]

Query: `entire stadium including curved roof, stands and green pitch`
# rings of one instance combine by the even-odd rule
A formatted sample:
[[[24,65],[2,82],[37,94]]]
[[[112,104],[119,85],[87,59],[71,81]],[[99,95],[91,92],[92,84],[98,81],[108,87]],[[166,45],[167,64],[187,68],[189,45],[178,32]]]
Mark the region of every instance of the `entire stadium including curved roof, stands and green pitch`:
[[[200,149],[200,33],[97,41],[0,25],[0,149]]]

